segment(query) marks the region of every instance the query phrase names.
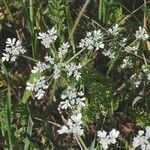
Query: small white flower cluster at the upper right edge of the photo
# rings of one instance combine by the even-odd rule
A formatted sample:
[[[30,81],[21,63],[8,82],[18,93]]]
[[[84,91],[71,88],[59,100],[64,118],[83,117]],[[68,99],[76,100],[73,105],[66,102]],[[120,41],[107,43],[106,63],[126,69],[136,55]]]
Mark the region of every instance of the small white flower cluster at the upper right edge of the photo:
[[[136,31],[135,37],[137,39],[147,40],[149,35],[146,33],[145,29],[139,26],[139,30]]]

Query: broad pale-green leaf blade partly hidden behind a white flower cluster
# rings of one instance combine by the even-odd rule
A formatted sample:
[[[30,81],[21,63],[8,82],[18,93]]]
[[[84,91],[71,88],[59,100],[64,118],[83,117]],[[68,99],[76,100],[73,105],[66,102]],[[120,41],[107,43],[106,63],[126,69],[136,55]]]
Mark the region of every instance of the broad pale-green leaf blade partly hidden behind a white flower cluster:
[[[29,78],[29,80],[27,82],[33,83],[34,79],[39,79],[40,76],[41,76],[40,72],[38,72],[38,73],[31,73],[30,78]],[[28,101],[29,97],[31,96],[31,94],[32,94],[32,91],[25,90],[21,102],[24,103],[24,104],[27,103],[27,101]]]

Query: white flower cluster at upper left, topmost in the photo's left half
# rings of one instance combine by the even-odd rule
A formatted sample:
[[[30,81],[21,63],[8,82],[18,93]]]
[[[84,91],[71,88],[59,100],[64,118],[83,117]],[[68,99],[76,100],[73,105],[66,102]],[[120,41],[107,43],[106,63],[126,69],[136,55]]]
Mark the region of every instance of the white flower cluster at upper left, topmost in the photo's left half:
[[[48,30],[44,33],[39,33],[38,39],[41,39],[41,43],[45,46],[45,48],[50,48],[50,44],[54,43],[57,39],[56,35],[57,31],[53,27],[51,30]]]

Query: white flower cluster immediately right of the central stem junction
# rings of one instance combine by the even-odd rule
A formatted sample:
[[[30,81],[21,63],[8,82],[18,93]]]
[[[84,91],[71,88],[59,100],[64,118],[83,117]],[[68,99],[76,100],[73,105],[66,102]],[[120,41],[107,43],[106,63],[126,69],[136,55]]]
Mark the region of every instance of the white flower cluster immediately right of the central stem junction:
[[[67,71],[67,75],[74,76],[75,79],[78,81],[81,78],[81,72],[80,69],[82,68],[82,65],[76,65],[75,63],[71,62],[70,64],[65,65],[65,69]]]

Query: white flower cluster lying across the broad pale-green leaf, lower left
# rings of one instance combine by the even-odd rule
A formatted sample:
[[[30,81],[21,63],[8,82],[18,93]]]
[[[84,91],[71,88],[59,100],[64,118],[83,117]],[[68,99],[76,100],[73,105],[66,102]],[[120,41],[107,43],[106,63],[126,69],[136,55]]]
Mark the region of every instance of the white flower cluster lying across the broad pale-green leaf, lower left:
[[[35,97],[41,99],[45,94],[45,89],[48,88],[46,85],[46,80],[44,76],[41,76],[40,79],[34,79],[33,83],[27,82],[26,89],[32,92],[35,92]]]

